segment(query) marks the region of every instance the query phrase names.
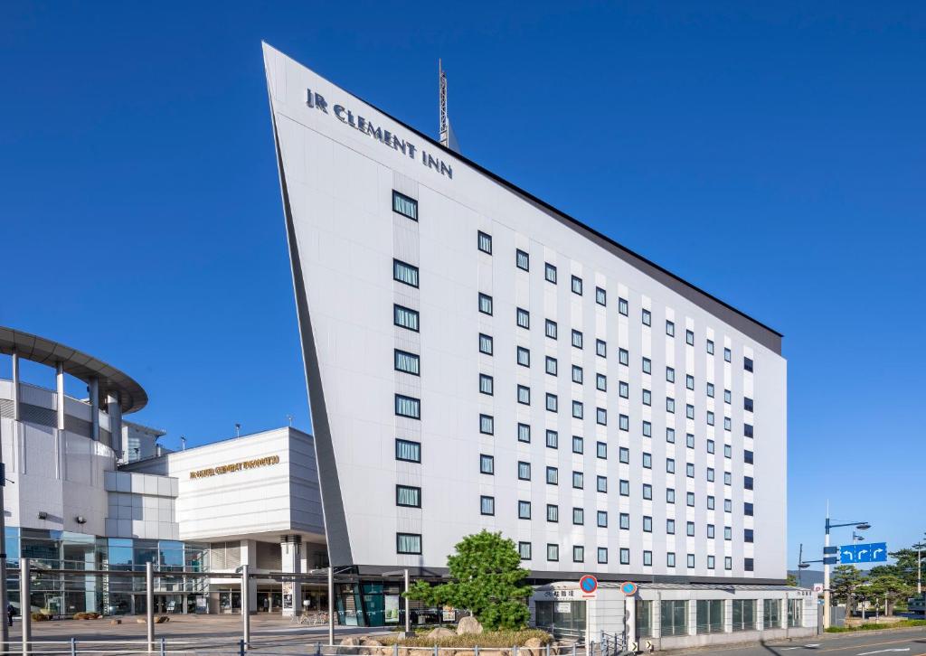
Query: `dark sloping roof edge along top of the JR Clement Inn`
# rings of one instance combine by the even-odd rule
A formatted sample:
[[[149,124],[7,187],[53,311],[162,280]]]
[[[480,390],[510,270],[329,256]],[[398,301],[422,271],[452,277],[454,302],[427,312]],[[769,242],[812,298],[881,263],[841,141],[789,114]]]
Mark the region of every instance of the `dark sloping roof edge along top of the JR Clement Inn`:
[[[273,46],[271,45],[270,47],[273,47]],[[289,57],[290,59],[293,59],[293,57],[285,55],[285,53],[283,53],[282,51],[278,51],[278,52],[280,52],[284,56]],[[293,59],[293,61],[295,61],[300,66],[305,66],[303,64],[300,64],[295,59]],[[308,68],[308,67],[305,67],[305,68]],[[315,73],[316,75],[319,75],[319,73],[315,70],[312,70],[312,72]],[[725,303],[724,301],[721,301],[716,296],[708,293],[707,291],[702,290],[701,288],[697,287],[691,282],[688,282],[684,278],[677,276],[676,274],[672,273],[668,269],[657,265],[655,262],[647,259],[643,255],[635,253],[634,251],[627,248],[626,246],[618,243],[617,241],[612,240],[607,235],[599,232],[598,230],[592,228],[591,226],[588,226],[582,223],[582,221],[580,221],[579,219],[575,217],[570,217],[568,214],[566,214],[560,209],[557,209],[557,207],[554,207],[552,204],[545,202],[544,200],[533,195],[531,192],[521,189],[514,182],[504,179],[501,176],[493,173],[489,169],[482,167],[482,165],[479,165],[476,162],[472,161],[471,159],[469,159],[469,157],[465,155],[460,155],[456,151],[450,150],[449,148],[444,146],[444,144],[442,144],[441,142],[435,141],[434,139],[432,139],[432,137],[428,136],[427,134],[418,130],[417,128],[413,128],[412,126],[408,125],[405,121],[400,120],[399,118],[395,118],[389,112],[384,111],[380,106],[370,103],[369,101],[365,100],[363,97],[357,95],[357,93],[353,93],[348,89],[344,89],[344,87],[341,86],[340,84],[335,84],[334,82],[332,82],[332,80],[328,80],[328,78],[325,78],[324,76],[319,75],[319,77],[322,78],[323,80],[330,82],[332,85],[338,87],[339,89],[343,90],[344,93],[349,93],[350,95],[354,96],[361,103],[365,103],[366,105],[369,105],[376,111],[380,112],[383,116],[390,118],[391,120],[394,120],[396,123],[401,125],[406,130],[410,130],[414,132],[421,139],[424,139],[425,141],[429,142],[432,146],[437,146],[438,148],[441,148],[447,155],[456,157],[463,164],[469,167],[472,167],[477,172],[482,173],[482,175],[493,179],[495,182],[503,185],[504,187],[507,187],[509,191],[517,193],[524,200],[528,201],[529,203],[533,204],[539,209],[544,210],[544,212],[550,215],[551,217],[556,218],[560,223],[563,223],[569,228],[576,230],[577,232],[582,234],[582,236],[590,239],[591,241],[594,241],[599,246],[602,246],[603,248],[607,249],[607,251],[610,251],[612,254],[617,255],[624,262],[639,269],[640,271],[642,271],[644,274],[646,274],[650,278],[656,278],[659,282],[669,287],[670,290],[678,292],[687,300],[707,310],[707,312],[709,312],[710,314],[717,316],[718,318],[720,318],[720,320],[728,323],[733,328],[736,328],[737,330],[743,332],[745,335],[756,340],[763,346],[769,348],[774,353],[778,353],[779,355],[782,354],[783,335],[782,333],[775,330],[774,328],[770,328],[769,326],[766,326],[762,322],[757,321],[757,319],[753,318],[752,316],[745,314],[745,312],[743,312],[742,310],[736,309],[730,303]]]

